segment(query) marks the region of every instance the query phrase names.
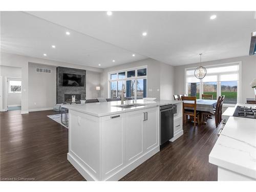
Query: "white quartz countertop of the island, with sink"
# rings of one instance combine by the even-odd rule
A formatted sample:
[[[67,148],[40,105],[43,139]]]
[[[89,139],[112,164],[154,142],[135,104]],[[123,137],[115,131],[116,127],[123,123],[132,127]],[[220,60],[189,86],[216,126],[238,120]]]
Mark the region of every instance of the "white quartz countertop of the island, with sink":
[[[96,103],[86,103],[86,104],[70,104],[70,105],[62,105],[63,108],[67,108],[69,110],[78,111],[81,113],[93,115],[96,117],[102,117],[106,115],[114,115],[119,113],[125,113],[130,111],[142,110],[146,108],[153,108],[154,106],[162,106],[166,104],[177,104],[182,101],[176,100],[155,100],[145,102],[143,99],[138,100],[127,100],[124,101],[124,104],[133,103],[145,104],[142,106],[136,106],[133,108],[118,108],[115,105],[120,105],[121,101],[110,101],[110,102],[96,102]]]

